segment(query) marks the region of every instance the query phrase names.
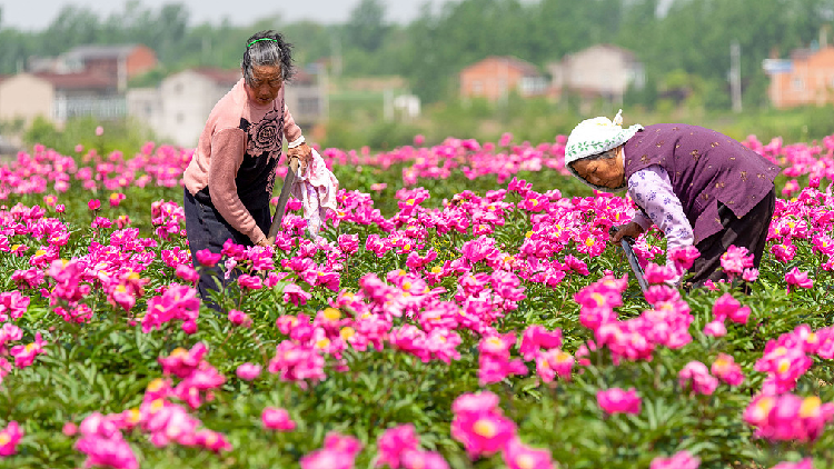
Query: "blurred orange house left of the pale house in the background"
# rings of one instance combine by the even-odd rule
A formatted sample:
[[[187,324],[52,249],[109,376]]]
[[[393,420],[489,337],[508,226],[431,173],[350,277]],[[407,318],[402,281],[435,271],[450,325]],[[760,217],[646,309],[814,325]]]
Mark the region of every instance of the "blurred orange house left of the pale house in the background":
[[[547,80],[533,63],[515,57],[492,56],[460,71],[460,97],[506,100],[516,91],[526,98],[547,91]]]

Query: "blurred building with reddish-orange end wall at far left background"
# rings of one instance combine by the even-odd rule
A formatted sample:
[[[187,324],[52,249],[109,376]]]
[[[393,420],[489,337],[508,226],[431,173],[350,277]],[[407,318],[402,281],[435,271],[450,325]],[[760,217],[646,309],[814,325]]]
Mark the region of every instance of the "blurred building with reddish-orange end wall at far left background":
[[[79,46],[54,58],[30,58],[28,71],[43,73],[98,73],[112,79],[119,92],[128,80],[152,70],[157,54],[143,44]]]

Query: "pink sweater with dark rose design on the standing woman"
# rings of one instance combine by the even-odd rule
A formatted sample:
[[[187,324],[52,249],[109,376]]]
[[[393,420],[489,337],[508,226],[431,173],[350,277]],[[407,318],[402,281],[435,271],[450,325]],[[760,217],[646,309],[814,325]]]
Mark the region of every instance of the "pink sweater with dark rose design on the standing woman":
[[[232,228],[248,236],[255,245],[264,240],[266,234],[240,201],[235,182],[247,149],[247,133],[240,128],[240,119],[244,118],[252,126],[257,126],[267,112],[271,111],[275,106],[280,106],[281,102],[284,102],[284,89],[269,106],[259,107],[250,102],[241,78],[215,104],[202,134],[200,134],[193,158],[183,173],[188,191],[196,194],[208,186],[211,203],[220,216]],[[288,141],[294,141],[300,136],[301,129],[296,124],[292,114],[285,104],[284,137]],[[281,137],[278,136],[277,138],[280,139]],[[280,149],[281,142],[278,141],[276,151],[280,152]]]

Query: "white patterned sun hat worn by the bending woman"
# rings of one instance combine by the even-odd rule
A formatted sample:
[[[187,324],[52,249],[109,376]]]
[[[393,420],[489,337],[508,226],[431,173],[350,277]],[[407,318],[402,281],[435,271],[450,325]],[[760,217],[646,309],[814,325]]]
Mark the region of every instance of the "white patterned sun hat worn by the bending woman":
[[[596,154],[604,153],[613,148],[617,148],[625,143],[628,139],[634,137],[638,130],[643,129],[643,126],[635,123],[634,126],[624,129],[623,127],[623,110],[617,112],[614,121],[606,117],[597,117],[593,119],[586,119],[579,122],[574,128],[570,136],[567,138],[567,147],[565,148],[565,167],[570,171],[572,174],[576,176],[580,181],[587,186],[604,192],[610,192],[612,190],[620,190],[625,187],[610,189],[602,186],[592,184],[586,181],[585,178],[580,177],[573,168],[570,163],[585,158],[594,157]]]

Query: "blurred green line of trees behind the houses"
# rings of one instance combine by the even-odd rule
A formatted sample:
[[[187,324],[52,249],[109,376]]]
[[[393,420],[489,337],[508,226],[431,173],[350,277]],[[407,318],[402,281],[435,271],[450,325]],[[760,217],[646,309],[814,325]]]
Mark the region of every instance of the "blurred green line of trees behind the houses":
[[[291,7],[288,7],[291,8]],[[280,14],[254,24],[190,24],[182,3],[158,9],[139,0],[100,17],[66,6],[42,31],[2,22],[0,73],[26,68],[30,56],[57,56],[88,43],[143,43],[160,67],[146,81],[188,67],[239,66],[254,31],[279,30],[296,46],[299,64],[324,61],[346,77],[399,74],[426,102],[455,96],[457,73],[488,56],[512,54],[538,66],[597,43],[632,50],[647,86],[628,99],[648,108],[681,93],[706,109],[731,106],[731,43],[741,47],[743,97],[766,104],[762,60],[812,47],[834,19],[834,0],[459,0],[423,6],[406,24],[386,19],[381,0],[361,0],[344,23],[288,22]]]

